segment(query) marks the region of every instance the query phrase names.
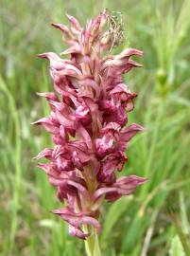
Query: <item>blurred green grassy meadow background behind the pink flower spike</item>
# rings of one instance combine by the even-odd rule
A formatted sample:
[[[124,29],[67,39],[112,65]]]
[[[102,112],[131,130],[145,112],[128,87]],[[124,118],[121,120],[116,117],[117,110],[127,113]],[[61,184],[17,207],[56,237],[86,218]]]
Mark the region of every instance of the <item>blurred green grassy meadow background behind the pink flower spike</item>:
[[[86,19],[121,11],[127,46],[142,49],[144,68],[126,76],[138,93],[130,122],[147,131],[130,143],[125,174],[147,176],[134,195],[101,210],[106,256],[183,256],[190,244],[190,0],[1,0],[0,8],[0,255],[83,256],[50,210],[56,192],[32,159],[50,137],[30,122],[48,115],[35,92],[52,90],[45,51],[61,52],[65,13]]]

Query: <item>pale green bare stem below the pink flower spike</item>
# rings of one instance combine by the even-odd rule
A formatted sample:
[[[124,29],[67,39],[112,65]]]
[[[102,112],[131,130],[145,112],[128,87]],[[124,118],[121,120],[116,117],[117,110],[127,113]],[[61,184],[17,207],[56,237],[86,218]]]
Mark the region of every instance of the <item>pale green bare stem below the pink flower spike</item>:
[[[101,256],[98,236],[95,228],[92,226],[87,226],[86,230],[91,233],[91,235],[84,242],[87,256]]]

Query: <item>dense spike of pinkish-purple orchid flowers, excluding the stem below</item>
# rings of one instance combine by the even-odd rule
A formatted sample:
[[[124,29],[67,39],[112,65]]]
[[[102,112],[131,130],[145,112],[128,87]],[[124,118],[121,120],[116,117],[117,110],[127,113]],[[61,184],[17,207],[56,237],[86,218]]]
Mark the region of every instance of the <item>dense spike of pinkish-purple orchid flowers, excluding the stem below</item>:
[[[143,52],[128,48],[105,56],[112,46],[112,36],[105,31],[109,15],[103,11],[85,28],[69,15],[70,28],[52,24],[69,46],[62,54],[69,54],[70,60],[53,52],[39,54],[50,62],[57,94],[39,93],[51,113],[34,123],[52,134],[55,147],[45,148],[36,158],[49,160],[39,167],[57,188],[60,201],[67,202],[65,208],[53,212],[69,223],[71,234],[82,239],[90,235],[83,225],[100,230],[98,209],[104,199],[113,202],[146,181],[135,175],[115,175],[128,160],[125,152],[130,138],[143,130],[138,124],[126,126],[136,94],[122,79],[122,74],[141,66],[130,56]]]

